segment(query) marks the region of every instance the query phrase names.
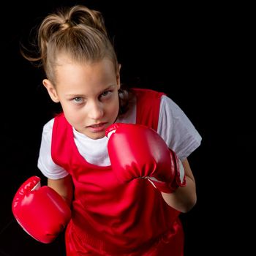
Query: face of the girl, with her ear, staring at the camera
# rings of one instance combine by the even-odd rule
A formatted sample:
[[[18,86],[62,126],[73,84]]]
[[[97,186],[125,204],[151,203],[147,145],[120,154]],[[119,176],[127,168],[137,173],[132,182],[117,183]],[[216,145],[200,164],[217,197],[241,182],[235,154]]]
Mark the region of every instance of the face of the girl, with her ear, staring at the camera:
[[[118,115],[119,72],[108,59],[80,64],[62,58],[56,68],[56,86],[43,80],[51,99],[60,102],[69,124],[91,139],[105,136]]]

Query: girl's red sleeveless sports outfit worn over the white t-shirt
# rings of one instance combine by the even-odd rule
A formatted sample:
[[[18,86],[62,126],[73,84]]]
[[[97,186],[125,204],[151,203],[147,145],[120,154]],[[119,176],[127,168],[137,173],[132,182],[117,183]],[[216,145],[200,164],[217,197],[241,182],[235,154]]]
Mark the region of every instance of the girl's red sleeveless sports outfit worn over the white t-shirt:
[[[134,91],[136,123],[157,130],[163,94],[148,89]],[[63,114],[54,120],[51,154],[53,161],[70,173],[75,186],[69,224],[72,231],[69,227],[66,232],[70,252],[80,244],[80,248],[94,248],[99,255],[183,255],[179,212],[167,206],[147,179],[119,184],[111,166],[86,162]],[[74,232],[78,238],[69,238]],[[157,249],[161,246],[162,252]]]

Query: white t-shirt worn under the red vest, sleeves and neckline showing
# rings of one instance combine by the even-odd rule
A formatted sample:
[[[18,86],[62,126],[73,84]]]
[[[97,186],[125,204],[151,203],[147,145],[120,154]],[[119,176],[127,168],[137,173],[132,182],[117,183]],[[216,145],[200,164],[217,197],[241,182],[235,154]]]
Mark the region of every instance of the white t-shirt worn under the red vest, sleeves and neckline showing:
[[[64,178],[68,173],[63,167],[56,165],[51,157],[53,121],[54,118],[43,127],[38,167],[47,178],[58,179]],[[116,122],[135,124],[136,104],[129,109],[123,118],[118,118]],[[181,108],[165,95],[161,97],[157,132],[165,140],[167,146],[176,152],[181,161],[200,146],[202,140],[194,125]],[[107,149],[108,138],[92,140],[74,128],[73,133],[75,145],[87,162],[99,166],[110,165]]]

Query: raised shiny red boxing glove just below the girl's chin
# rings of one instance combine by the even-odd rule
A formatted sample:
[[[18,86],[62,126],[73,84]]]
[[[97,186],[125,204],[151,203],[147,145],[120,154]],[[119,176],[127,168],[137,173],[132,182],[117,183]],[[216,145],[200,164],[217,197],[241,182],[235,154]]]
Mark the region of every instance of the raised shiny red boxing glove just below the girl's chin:
[[[116,123],[108,127],[106,135],[110,162],[119,181],[148,178],[165,193],[186,186],[181,161],[154,129]]]

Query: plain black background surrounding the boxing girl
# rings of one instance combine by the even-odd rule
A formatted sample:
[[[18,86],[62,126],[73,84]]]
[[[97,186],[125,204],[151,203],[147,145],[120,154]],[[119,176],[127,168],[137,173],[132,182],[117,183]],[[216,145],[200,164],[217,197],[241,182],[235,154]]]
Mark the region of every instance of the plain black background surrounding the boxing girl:
[[[164,91],[203,138],[189,157],[197,205],[181,214],[185,256],[240,250],[246,255],[246,230],[252,227],[247,211],[253,180],[246,165],[254,140],[252,7],[167,1],[1,4],[0,255],[65,255],[63,234],[52,244],[34,241],[15,222],[11,204],[26,178],[37,175],[45,183],[37,157],[42,126],[55,110],[42,88],[42,73],[20,56],[19,43],[27,42],[31,29],[55,7],[72,4],[104,15],[122,82]]]

